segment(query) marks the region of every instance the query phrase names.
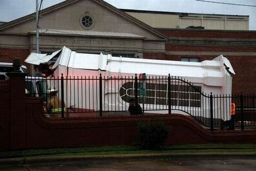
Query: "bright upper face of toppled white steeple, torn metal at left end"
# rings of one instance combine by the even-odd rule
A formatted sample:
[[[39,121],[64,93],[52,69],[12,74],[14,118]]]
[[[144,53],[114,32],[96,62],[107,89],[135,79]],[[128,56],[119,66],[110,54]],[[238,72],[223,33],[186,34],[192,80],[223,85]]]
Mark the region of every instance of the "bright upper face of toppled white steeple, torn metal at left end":
[[[58,65],[74,68],[101,70],[115,73],[147,73],[148,75],[168,75],[182,77],[203,78],[204,75],[222,77],[224,72],[227,75],[235,74],[229,60],[219,55],[213,60],[202,62],[181,62],[171,60],[152,60],[141,58],[123,58],[101,54],[76,53],[67,47],[52,53],[51,55],[31,53],[25,62],[34,65],[49,64],[52,58],[57,58],[52,69]],[[225,72],[225,70],[229,72]]]

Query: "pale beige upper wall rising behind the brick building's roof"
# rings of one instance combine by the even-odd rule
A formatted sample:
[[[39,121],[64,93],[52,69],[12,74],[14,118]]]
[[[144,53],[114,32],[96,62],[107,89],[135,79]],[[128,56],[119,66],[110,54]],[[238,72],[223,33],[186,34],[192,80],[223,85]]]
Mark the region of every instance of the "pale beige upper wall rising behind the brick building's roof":
[[[180,15],[173,13],[126,12],[154,28],[180,28],[203,26],[215,30],[249,30],[249,16],[196,14]]]

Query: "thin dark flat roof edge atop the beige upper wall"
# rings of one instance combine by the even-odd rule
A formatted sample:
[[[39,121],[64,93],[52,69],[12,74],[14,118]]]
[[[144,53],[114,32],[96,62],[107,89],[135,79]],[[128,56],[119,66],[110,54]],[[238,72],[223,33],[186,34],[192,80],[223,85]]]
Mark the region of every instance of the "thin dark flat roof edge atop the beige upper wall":
[[[243,16],[249,17],[249,15],[224,15],[224,14],[206,14],[206,13],[179,13],[179,12],[167,12],[167,11],[147,11],[147,10],[138,10],[138,9],[120,9],[124,12],[133,12],[133,13],[150,13],[150,14],[169,14],[169,15],[209,15],[209,16]]]

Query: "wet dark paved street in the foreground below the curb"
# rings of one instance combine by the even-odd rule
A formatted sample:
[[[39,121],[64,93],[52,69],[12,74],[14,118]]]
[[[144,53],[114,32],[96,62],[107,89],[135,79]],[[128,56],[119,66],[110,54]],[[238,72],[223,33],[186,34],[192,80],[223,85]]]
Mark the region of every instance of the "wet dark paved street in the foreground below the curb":
[[[1,167],[13,171],[253,171],[256,157],[168,157],[145,159],[95,159],[67,160],[28,164],[26,166]]]

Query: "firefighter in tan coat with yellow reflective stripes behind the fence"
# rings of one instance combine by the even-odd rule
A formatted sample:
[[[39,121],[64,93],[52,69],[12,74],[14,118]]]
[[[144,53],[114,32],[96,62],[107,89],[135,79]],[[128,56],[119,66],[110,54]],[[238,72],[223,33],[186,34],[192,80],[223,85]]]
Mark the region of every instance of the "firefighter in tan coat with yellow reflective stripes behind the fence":
[[[48,90],[48,96],[50,96],[50,100],[47,104],[47,111],[51,114],[50,116],[61,118],[61,100],[57,97],[58,91],[55,89]],[[66,104],[64,103],[64,112],[66,112]],[[64,117],[66,117],[66,113]]]

